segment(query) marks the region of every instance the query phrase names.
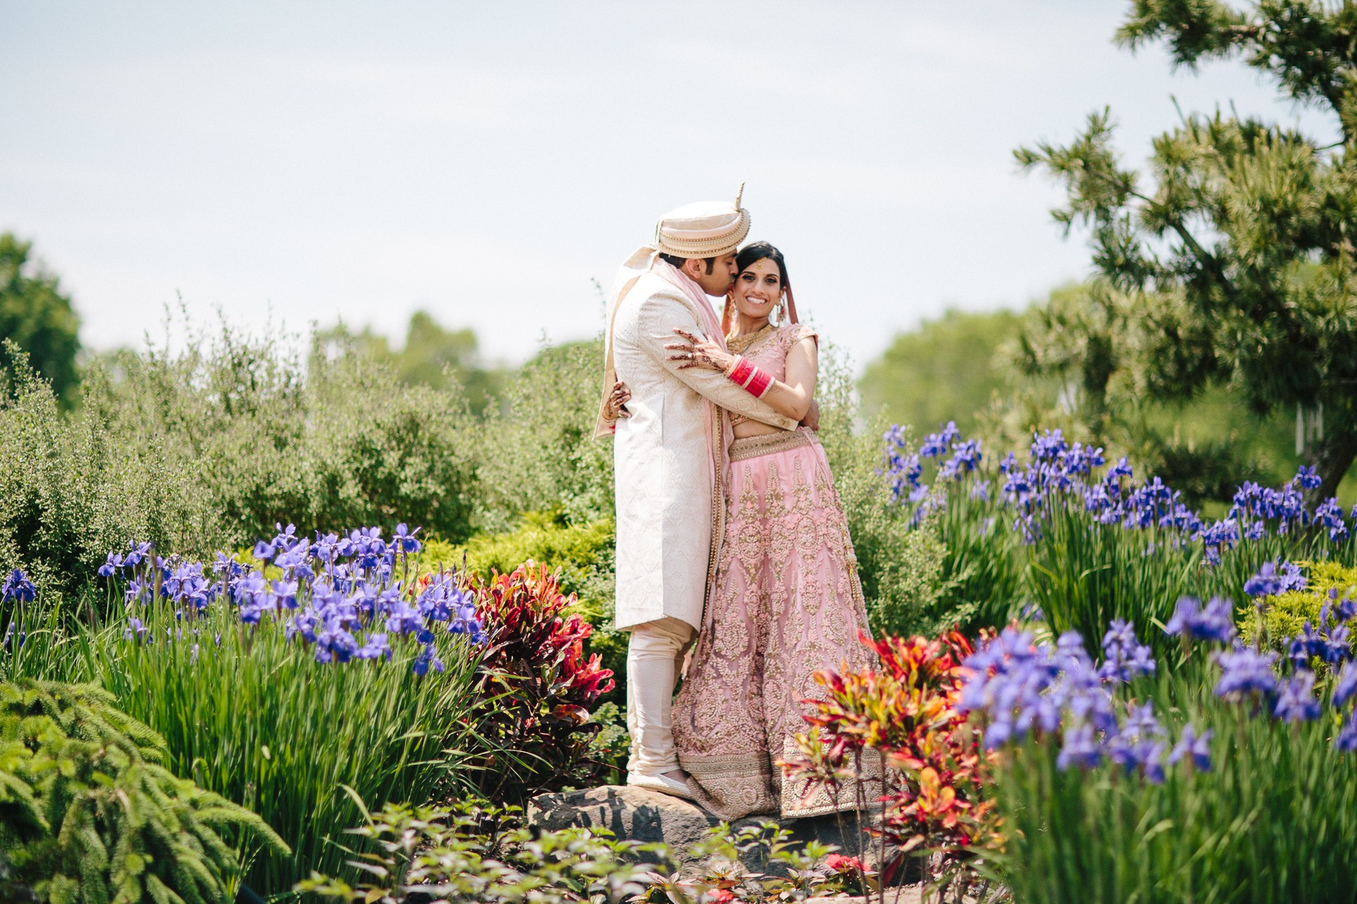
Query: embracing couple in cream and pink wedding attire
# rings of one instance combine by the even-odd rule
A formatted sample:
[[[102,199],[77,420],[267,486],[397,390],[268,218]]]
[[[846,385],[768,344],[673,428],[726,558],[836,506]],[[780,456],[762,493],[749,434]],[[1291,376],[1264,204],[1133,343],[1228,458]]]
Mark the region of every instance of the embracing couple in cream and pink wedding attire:
[[[738,195],[689,204],[623,265],[596,430],[615,442],[627,783],[726,820],[852,808],[776,761],[797,753],[811,675],[873,662],[813,429],[816,331],[797,322],[782,252],[741,250],[748,235]],[[719,319],[708,296],[725,297]]]

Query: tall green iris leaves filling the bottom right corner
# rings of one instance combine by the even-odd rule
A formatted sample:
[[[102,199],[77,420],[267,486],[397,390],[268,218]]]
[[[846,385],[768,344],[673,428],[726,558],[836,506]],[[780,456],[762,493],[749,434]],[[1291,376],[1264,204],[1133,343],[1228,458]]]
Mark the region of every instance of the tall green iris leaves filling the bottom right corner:
[[[1061,756],[1061,744],[1071,747],[1068,714],[1064,732],[1037,733],[996,757],[1007,842],[987,859],[1014,901],[1357,901],[1349,880],[1357,763],[1335,742],[1341,700],[1330,707],[1327,687],[1316,695],[1307,685],[1318,718],[1282,719],[1273,715],[1276,695],[1221,699],[1223,673],[1204,646],[1162,661],[1158,679],[1124,685],[1115,709],[1163,714],[1159,732],[1140,736],[1163,745],[1151,755],[1159,761],[1190,722],[1206,738],[1206,761],[1181,751],[1162,776],[1143,775],[1134,760],[1090,767]]]

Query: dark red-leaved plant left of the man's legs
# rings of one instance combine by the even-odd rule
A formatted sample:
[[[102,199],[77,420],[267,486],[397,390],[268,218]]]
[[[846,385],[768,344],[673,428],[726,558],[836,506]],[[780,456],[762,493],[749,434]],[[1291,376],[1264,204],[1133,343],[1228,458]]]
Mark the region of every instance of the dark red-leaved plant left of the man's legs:
[[[487,751],[478,783],[493,801],[578,783],[589,772],[590,704],[613,688],[598,654],[585,657],[593,626],[562,615],[575,596],[560,593],[559,570],[531,559],[512,574],[474,577],[476,615],[487,635],[475,711]],[[513,802],[509,801],[509,802]]]

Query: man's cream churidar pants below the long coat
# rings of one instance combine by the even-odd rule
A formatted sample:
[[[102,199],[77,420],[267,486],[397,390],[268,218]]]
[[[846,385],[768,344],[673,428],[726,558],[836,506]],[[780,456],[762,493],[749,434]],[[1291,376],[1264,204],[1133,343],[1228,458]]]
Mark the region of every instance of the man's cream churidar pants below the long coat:
[[[627,645],[628,772],[661,775],[678,768],[669,711],[692,634],[691,624],[674,618],[631,628]]]

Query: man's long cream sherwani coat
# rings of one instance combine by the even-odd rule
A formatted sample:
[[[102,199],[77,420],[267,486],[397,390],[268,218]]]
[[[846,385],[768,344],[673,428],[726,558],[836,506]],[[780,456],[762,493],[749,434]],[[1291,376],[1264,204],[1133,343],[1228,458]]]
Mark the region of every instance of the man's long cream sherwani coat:
[[[651,263],[651,252],[642,248],[623,265],[608,330],[604,391],[613,372],[631,390],[631,417],[617,421],[613,441],[616,624],[673,618],[696,630],[725,520],[721,409],[784,430],[797,423],[716,371],[669,361],[665,345],[680,341],[674,327],[723,339],[711,303],[700,289],[692,292],[696,284],[688,281],[691,297],[657,271],[669,265]],[[611,429],[600,419],[600,433]]]

